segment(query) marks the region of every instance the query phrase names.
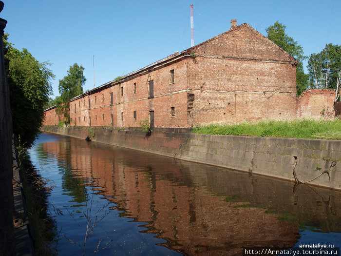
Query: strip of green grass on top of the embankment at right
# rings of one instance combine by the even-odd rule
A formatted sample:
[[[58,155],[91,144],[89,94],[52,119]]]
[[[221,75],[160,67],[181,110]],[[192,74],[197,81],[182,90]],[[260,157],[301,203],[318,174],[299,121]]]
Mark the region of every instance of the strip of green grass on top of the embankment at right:
[[[192,133],[214,135],[246,135],[278,138],[341,139],[341,119],[295,119],[209,124],[193,128]]]

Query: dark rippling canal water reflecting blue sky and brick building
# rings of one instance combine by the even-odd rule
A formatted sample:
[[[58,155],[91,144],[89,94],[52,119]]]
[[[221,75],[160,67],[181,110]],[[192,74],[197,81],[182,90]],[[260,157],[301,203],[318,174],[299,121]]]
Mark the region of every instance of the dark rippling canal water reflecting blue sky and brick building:
[[[52,134],[29,156],[50,188],[58,255],[341,246],[337,191]]]

